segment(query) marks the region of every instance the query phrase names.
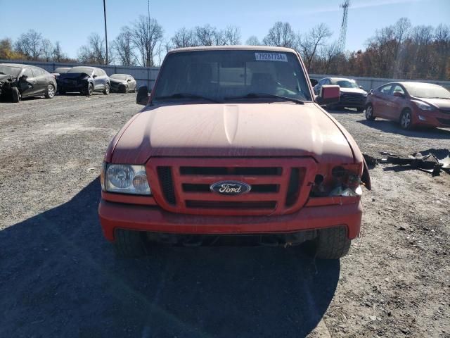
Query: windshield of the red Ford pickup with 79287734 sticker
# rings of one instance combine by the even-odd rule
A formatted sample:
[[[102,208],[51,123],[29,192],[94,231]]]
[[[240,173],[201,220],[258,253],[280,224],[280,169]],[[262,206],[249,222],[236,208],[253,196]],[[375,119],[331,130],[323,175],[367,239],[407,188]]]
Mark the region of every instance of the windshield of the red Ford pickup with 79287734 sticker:
[[[169,54],[162,65],[153,102],[199,99],[311,101],[311,96],[294,53],[214,50]]]

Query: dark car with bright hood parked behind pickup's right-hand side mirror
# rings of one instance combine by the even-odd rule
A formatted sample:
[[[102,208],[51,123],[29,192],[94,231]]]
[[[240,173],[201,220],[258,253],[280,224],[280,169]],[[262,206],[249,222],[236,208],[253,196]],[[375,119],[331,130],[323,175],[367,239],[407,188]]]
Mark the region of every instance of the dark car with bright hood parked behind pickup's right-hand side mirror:
[[[340,99],[337,104],[326,106],[328,109],[356,108],[364,111],[366,106],[367,92],[363,87],[358,86],[355,80],[343,77],[325,77],[314,86],[314,94],[319,95],[324,84],[337,84],[340,87]]]

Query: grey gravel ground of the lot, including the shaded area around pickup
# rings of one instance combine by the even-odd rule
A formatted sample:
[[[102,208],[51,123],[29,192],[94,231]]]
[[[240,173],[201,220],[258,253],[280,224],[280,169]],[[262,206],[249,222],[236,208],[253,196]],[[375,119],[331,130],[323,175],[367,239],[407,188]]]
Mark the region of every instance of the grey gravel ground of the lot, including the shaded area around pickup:
[[[119,260],[98,224],[133,94],[0,103],[0,337],[450,337],[450,175],[378,165],[340,261],[296,249],[160,248]],[[450,148],[333,112],[361,150]]]

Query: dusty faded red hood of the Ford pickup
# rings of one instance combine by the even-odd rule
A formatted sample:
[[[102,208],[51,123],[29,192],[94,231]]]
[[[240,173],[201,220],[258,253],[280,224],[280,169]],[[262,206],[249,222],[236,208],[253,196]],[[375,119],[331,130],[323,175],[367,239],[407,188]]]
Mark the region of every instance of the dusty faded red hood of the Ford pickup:
[[[146,107],[110,144],[106,161],[146,163],[151,156],[312,156],[354,163],[339,125],[319,106],[182,104]]]

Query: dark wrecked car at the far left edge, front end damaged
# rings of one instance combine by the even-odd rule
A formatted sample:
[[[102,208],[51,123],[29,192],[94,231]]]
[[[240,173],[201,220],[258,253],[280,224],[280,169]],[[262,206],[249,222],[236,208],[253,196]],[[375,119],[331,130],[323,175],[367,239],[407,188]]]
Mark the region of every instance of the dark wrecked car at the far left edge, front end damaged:
[[[46,70],[33,65],[0,63],[0,95],[19,102],[24,97],[45,96],[56,93],[56,80]]]

